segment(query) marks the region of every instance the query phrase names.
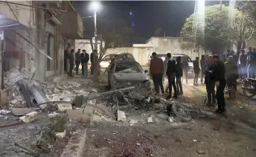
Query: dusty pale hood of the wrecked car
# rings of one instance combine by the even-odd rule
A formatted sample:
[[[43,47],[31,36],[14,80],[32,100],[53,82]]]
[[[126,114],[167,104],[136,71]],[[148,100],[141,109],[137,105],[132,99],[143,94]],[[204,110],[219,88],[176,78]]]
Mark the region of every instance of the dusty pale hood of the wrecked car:
[[[149,77],[145,73],[115,73],[114,75],[117,81],[141,82],[149,80]]]

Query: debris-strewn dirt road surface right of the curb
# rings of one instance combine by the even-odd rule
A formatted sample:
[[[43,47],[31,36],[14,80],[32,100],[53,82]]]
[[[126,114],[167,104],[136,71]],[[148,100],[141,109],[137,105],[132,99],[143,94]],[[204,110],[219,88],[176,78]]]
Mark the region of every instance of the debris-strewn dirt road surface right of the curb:
[[[85,157],[251,157],[256,154],[255,101],[242,94],[226,100],[227,112],[214,115],[206,107],[205,86],[184,85],[184,95],[177,100],[194,103],[210,115],[189,123],[172,123],[167,115],[148,111],[126,112],[127,123],[88,128]],[[147,116],[153,123],[147,124]],[[212,115],[211,115],[212,114]],[[135,121],[136,120],[136,121]],[[133,123],[131,123],[133,121]],[[135,122],[134,122],[135,121]]]

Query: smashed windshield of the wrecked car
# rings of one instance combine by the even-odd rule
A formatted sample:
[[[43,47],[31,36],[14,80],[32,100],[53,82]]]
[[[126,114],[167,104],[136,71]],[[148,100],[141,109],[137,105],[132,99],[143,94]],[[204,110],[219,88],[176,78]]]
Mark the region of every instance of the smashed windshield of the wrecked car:
[[[131,72],[143,72],[141,65],[138,63],[121,63],[115,66],[115,72],[131,73]]]

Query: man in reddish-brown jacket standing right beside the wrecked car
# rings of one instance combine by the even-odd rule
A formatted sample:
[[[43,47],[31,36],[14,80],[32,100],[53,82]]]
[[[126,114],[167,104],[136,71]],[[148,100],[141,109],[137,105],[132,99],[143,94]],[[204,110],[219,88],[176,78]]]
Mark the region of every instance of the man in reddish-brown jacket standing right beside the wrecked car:
[[[152,57],[153,59],[150,61],[150,77],[153,78],[156,95],[159,95],[159,86],[161,88],[161,94],[164,95],[164,62],[161,60],[161,58],[156,56],[156,52],[153,52]]]

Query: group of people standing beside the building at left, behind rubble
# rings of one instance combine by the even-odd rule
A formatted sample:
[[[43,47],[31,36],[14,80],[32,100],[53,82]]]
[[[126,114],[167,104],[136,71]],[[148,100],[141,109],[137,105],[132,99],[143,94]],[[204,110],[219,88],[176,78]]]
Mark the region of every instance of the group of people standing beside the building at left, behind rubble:
[[[82,65],[82,75],[83,77],[88,77],[88,62],[91,61],[91,75],[93,75],[94,67],[95,67],[95,59],[97,53],[92,51],[92,54],[89,56],[86,50],[83,50],[81,53],[81,49],[74,54],[74,49],[71,49],[70,53],[68,51],[64,51],[64,71],[68,72],[70,77],[73,77],[73,69],[75,63],[75,71],[78,75],[79,66]],[[67,63],[69,63],[69,69],[67,67]]]

